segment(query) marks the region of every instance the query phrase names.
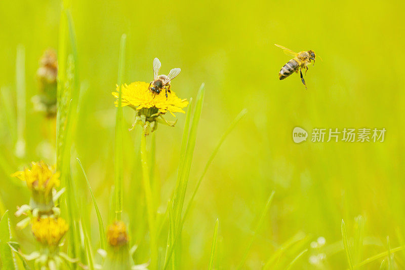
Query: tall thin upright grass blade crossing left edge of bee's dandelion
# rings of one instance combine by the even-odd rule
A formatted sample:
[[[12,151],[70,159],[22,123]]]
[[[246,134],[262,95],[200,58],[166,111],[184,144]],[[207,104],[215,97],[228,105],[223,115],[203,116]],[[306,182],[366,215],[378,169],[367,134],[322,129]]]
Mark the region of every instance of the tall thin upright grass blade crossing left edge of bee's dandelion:
[[[127,35],[121,35],[118,60],[118,107],[115,118],[115,141],[114,141],[114,186],[115,186],[115,215],[121,219],[123,212],[123,107],[121,106],[121,85],[123,84],[125,69],[125,46]]]

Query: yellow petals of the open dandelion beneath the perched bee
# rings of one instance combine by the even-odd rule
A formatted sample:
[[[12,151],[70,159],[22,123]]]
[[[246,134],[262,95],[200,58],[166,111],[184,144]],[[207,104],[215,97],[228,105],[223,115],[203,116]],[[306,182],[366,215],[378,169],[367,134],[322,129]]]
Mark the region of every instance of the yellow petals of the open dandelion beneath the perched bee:
[[[168,98],[166,99],[165,91],[160,94],[153,94],[148,90],[149,83],[145,82],[134,82],[130,85],[124,84],[121,95],[121,105],[131,106],[136,110],[142,108],[156,108],[161,113],[166,113],[169,111],[173,112],[183,112],[182,108],[186,107],[188,101],[186,99],[180,99],[176,96],[176,93],[171,91],[168,93]],[[117,86],[117,92],[112,92],[111,94],[118,99],[119,86]],[[115,100],[115,106],[118,106],[118,100]]]

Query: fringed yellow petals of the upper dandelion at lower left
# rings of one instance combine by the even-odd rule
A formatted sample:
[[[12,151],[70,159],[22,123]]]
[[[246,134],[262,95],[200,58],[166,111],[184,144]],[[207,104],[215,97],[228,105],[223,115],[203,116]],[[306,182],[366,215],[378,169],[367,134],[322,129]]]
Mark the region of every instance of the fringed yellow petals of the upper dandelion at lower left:
[[[54,166],[43,161],[32,162],[31,169],[25,168],[24,171],[12,174],[13,177],[25,181],[29,189],[45,192],[45,195],[48,195],[52,188],[59,186],[59,175]]]

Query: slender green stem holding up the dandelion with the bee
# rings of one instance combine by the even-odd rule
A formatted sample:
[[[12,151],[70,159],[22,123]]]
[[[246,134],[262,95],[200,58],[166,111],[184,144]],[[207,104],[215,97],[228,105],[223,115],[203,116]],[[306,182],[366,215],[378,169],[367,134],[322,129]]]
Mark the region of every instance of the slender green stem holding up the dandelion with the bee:
[[[141,163],[142,163],[142,180],[145,191],[146,208],[148,214],[149,223],[149,235],[150,235],[150,269],[156,269],[157,267],[157,242],[156,242],[156,227],[155,227],[155,215],[153,206],[153,195],[150,186],[150,169],[148,165],[148,155],[146,150],[146,127],[142,131],[141,135]]]

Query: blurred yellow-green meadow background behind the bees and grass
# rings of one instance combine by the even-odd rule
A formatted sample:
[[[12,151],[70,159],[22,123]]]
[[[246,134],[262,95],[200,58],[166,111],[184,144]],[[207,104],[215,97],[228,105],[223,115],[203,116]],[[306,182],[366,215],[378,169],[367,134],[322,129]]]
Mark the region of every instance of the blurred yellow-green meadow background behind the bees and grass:
[[[0,196],[5,209],[27,202],[28,191],[10,174],[30,161],[54,163],[54,138],[47,120],[33,111],[38,92],[38,61],[48,48],[58,48],[59,1],[0,2],[0,87],[11,94],[0,108]],[[341,242],[341,220],[349,239],[355,217],[365,219],[363,254],[356,262],[401,246],[405,235],[404,79],[405,2],[403,1],[275,1],[135,2],[72,1],[79,76],[83,91],[72,157],[85,166],[105,220],[113,184],[114,98],[119,39],[127,34],[125,82],[152,79],[152,60],[161,72],[181,67],[172,89],[181,98],[195,97],[206,84],[203,116],[198,128],[190,177],[192,190],[210,153],[242,108],[249,113],[222,145],[201,184],[184,226],[185,269],[208,264],[215,220],[219,218],[219,255],[222,268],[235,268],[260,212],[275,197],[247,258],[246,268],[257,269],[282,243],[297,234],[308,241],[287,250],[281,261],[291,261],[309,248],[297,268],[348,267]],[[273,44],[296,52],[312,49],[317,59],[305,77],[279,81],[278,71],[290,57]],[[15,123],[5,111],[16,113],[16,48],[25,47],[26,152],[15,156]],[[3,97],[3,96],[2,96]],[[7,106],[6,106],[7,107]],[[124,108],[126,125],[134,112]],[[24,117],[24,115],[23,115]],[[155,133],[155,185],[164,212],[174,188],[184,115],[176,128],[159,126]],[[167,117],[173,120],[170,115]],[[295,144],[292,130],[313,128],[385,128],[383,143]],[[139,169],[139,130],[125,132],[125,215],[131,241],[143,245],[146,216]],[[83,184],[73,160],[73,175]],[[78,195],[92,215],[92,237],[97,243],[97,221],[88,190]],[[189,194],[187,195],[189,198]],[[186,198],[186,199],[187,199]],[[131,217],[131,218],[130,218]],[[131,220],[130,220],[131,219]],[[135,220],[134,220],[135,219]],[[15,224],[16,219],[12,222]],[[106,221],[105,221],[106,223]],[[18,232],[29,251],[29,232]],[[325,237],[326,245],[309,243]],[[25,241],[25,242],[24,242]],[[163,240],[164,241],[164,240]],[[353,246],[353,240],[349,241]],[[299,250],[299,248],[301,248]],[[310,257],[325,253],[317,264]],[[147,251],[137,255],[140,262]],[[380,260],[367,267],[378,267]],[[394,255],[395,266],[405,267],[405,253]]]

